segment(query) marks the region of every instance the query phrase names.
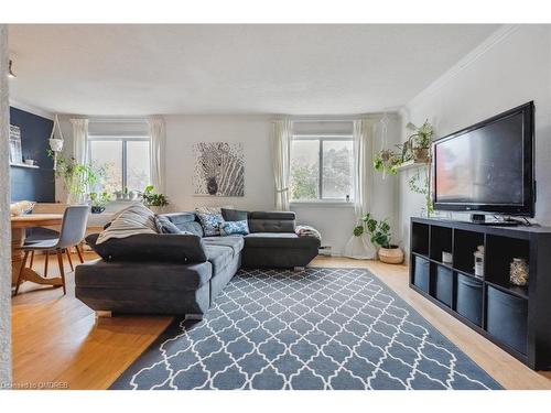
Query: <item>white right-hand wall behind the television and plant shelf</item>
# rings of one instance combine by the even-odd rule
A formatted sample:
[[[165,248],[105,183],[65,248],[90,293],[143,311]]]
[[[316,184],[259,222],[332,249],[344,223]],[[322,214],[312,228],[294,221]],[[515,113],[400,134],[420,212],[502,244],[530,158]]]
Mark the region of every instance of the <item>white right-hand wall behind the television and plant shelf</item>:
[[[536,219],[551,225],[551,28],[504,26],[458,65],[406,105],[408,121],[435,127],[435,138],[474,124],[527,101],[536,104]],[[402,140],[406,137],[402,134]],[[419,216],[421,195],[408,189],[410,173],[400,176],[400,228],[409,239],[409,219]],[[409,247],[408,242],[404,242]]]

